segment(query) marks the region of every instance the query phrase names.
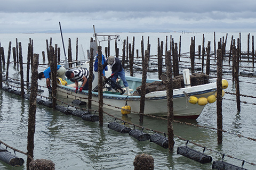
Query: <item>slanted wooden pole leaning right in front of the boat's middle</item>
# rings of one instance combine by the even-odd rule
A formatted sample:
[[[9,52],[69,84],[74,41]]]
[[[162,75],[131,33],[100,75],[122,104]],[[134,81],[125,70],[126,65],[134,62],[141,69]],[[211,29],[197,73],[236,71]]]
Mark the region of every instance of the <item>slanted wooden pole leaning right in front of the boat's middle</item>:
[[[146,95],[146,81],[147,81],[147,71],[148,71],[148,61],[149,61],[149,52],[145,50],[145,58],[143,62],[142,69],[142,82],[141,82],[141,95],[140,95],[140,123],[143,122],[143,113],[145,109],[145,95]]]

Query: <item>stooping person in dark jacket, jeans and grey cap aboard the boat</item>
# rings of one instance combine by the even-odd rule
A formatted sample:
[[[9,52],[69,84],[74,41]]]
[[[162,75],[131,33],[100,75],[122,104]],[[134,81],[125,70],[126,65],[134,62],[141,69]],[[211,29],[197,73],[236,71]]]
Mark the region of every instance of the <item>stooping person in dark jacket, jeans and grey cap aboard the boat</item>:
[[[121,61],[118,58],[110,55],[106,60],[106,62],[102,65],[102,68],[105,68],[107,65],[109,65],[112,71],[112,74],[110,76],[111,79],[114,82],[116,82],[116,79],[119,76],[124,83],[124,87],[125,87],[125,90],[127,91],[127,95],[130,96],[129,84],[126,81],[125,72],[124,72],[124,68],[122,66]]]

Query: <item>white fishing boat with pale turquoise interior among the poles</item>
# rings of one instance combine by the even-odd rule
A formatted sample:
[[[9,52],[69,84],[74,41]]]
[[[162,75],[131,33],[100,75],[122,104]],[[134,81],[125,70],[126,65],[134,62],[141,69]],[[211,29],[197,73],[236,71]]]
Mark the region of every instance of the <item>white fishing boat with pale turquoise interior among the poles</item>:
[[[89,61],[86,61],[81,67],[86,67],[89,70]],[[98,72],[94,72],[94,81],[92,83],[92,89],[98,85]],[[106,72],[106,77],[111,75],[110,69]],[[126,80],[129,83],[131,94],[136,90],[137,87],[141,86],[141,78],[126,76]],[[147,82],[154,82],[161,80],[147,79]],[[83,90],[82,92],[75,93],[75,83],[67,81],[68,85],[62,84],[57,85],[57,95],[69,96],[69,98],[87,98],[88,91]],[[121,83],[122,84],[122,83]],[[186,87],[173,90],[173,114],[174,118],[191,118],[196,119],[203,111],[205,105],[191,104],[188,102],[188,96],[195,96],[197,98],[208,97],[214,95],[217,91],[216,79],[210,79],[209,83]],[[126,103],[131,106],[132,113],[139,113],[140,110],[140,96],[127,96],[126,93],[123,95],[113,94],[111,91],[105,91],[103,89],[103,108],[110,108],[121,112],[121,107]],[[69,95],[71,94],[71,95]],[[98,92],[92,91],[92,104],[98,105]],[[96,102],[95,102],[96,101]],[[111,107],[115,106],[115,107]],[[145,96],[145,110],[144,114],[153,114],[157,116],[167,116],[167,96],[166,90],[149,92]]]

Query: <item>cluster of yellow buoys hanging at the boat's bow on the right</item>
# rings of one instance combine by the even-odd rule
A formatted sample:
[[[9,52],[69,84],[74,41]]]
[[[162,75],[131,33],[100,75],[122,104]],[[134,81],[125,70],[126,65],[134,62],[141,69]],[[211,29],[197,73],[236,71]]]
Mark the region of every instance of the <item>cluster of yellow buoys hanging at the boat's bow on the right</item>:
[[[225,79],[222,79],[222,89],[227,89],[228,88],[228,81]],[[225,91],[222,90],[222,97],[225,95]],[[210,95],[208,97],[200,97],[197,98],[195,96],[190,96],[188,102],[191,104],[198,104],[200,106],[207,105],[208,103],[214,103],[217,99],[217,92],[215,92],[214,95]]]

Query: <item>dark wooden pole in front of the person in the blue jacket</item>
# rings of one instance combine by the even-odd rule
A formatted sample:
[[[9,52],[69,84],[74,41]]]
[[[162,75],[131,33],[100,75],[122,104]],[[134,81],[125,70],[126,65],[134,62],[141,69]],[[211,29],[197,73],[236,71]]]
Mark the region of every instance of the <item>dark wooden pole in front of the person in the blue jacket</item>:
[[[103,80],[102,80],[102,52],[101,46],[98,46],[98,95],[99,95],[99,123],[103,126]]]

